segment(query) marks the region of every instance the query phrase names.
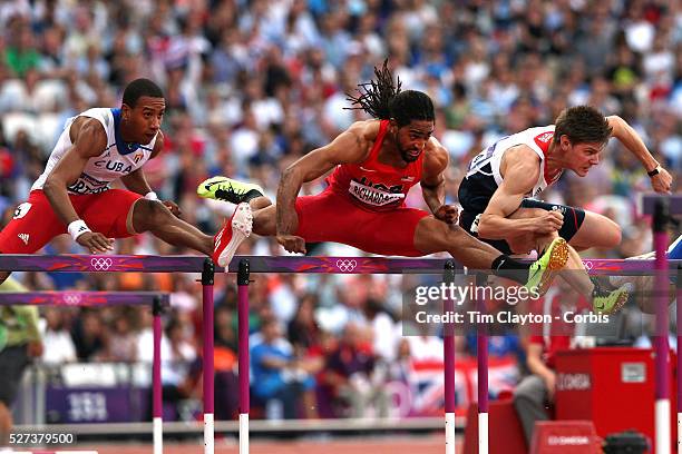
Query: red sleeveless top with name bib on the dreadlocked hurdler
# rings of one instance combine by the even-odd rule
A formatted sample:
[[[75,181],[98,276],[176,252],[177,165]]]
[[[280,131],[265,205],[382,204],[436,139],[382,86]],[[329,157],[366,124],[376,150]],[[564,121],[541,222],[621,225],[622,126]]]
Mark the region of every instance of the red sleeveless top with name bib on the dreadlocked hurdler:
[[[331,190],[350,197],[355,205],[373,211],[405,205],[408,191],[421,179],[423,154],[405,168],[379,162],[379,151],[388,125],[388,120],[381,120],[377,139],[364,161],[342,164],[327,179]]]

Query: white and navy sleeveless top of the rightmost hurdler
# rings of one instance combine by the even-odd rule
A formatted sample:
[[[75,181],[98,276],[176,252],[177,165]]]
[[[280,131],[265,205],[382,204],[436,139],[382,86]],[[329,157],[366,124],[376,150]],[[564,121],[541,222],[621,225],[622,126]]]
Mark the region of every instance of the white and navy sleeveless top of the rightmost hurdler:
[[[540,175],[526,197],[537,197],[548,186],[554,184],[561,172],[548,179],[546,175],[546,152],[554,138],[554,125],[529,128],[512,136],[503,137],[478,154],[467,170],[459,186],[459,203],[471,213],[483,213],[488,201],[503,181],[500,174],[501,159],[509,148],[527,145],[540,158]]]

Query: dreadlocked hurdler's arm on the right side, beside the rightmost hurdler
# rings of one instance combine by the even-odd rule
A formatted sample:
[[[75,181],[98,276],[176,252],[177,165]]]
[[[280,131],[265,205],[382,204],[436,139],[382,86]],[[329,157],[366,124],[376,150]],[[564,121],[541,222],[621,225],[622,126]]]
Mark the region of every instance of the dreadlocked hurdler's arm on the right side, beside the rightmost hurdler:
[[[446,205],[445,171],[448,168],[448,151],[436,138],[431,138],[425,154],[423,171],[419,181],[423,200],[438,219],[455,224],[457,207]]]

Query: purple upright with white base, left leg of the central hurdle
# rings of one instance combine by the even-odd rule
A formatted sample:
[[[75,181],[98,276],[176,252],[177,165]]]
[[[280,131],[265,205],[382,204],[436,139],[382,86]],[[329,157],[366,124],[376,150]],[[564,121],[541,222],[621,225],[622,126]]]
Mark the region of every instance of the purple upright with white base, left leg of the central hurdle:
[[[240,374],[240,454],[249,454],[249,260],[240,260],[237,273],[237,337]]]

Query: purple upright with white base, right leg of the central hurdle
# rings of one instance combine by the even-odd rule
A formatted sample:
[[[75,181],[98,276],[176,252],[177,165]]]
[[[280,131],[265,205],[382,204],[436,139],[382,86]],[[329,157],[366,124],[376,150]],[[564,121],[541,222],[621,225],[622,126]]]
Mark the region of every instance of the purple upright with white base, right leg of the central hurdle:
[[[455,261],[448,260],[445,265],[444,282],[455,282]],[[444,302],[444,313],[455,310],[455,302],[447,298]],[[455,326],[445,325],[442,339],[442,355],[445,362],[445,411],[446,411],[446,454],[455,454]]]

